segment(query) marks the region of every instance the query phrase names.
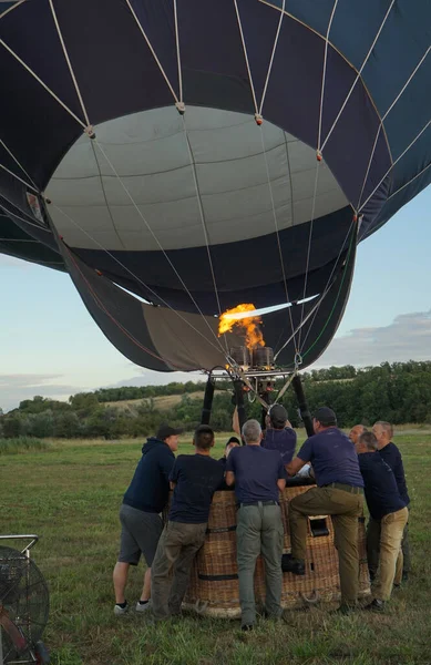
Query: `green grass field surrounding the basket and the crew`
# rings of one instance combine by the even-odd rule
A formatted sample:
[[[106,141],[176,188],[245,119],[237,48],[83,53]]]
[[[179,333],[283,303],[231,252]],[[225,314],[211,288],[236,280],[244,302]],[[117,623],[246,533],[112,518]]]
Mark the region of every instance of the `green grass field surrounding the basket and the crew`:
[[[324,608],[291,612],[286,623],[194,616],[152,626],[134,613],[113,615],[111,575],[117,510],[137,441],[54,441],[41,451],[0,456],[0,533],[35,532],[33,557],[51,591],[44,641],[53,665],[391,665],[431,664],[431,436],[400,433],[411,507],[414,571],[384,615],[335,617]],[[216,456],[226,440],[220,437]],[[181,452],[192,452],[189,439]],[[138,597],[143,569],[127,597]]]

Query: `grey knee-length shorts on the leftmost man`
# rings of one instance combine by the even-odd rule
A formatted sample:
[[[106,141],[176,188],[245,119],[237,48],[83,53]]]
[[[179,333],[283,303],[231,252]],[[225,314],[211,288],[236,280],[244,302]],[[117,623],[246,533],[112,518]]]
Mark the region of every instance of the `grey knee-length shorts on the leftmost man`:
[[[123,503],[120,522],[122,530],[119,561],[137,565],[143,554],[150,567],[163,531],[162,518],[157,513],[144,512]]]

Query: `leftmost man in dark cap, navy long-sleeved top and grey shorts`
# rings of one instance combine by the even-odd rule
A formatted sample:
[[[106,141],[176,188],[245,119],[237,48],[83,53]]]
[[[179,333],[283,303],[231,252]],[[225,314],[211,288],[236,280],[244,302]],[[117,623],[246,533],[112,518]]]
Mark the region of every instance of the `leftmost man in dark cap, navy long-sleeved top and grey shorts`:
[[[124,596],[129,567],[137,565],[141,554],[144,555],[147,569],[136,612],[145,612],[150,607],[151,565],[163,530],[160,513],[167,502],[170,474],[174,467],[174,452],[178,448],[181,432],[179,429],[162,424],[156,436],[147,439],[132,482],[124,494],[120,509],[120,555],[113,573],[115,615],[125,614],[129,610]]]

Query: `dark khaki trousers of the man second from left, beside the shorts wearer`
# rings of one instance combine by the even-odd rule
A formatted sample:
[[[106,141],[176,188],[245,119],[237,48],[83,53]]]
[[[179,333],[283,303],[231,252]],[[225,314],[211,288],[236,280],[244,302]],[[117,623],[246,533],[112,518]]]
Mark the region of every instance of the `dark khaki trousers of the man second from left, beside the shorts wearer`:
[[[167,522],[151,566],[151,597],[155,620],[179,614],[193,560],[205,541],[205,524]]]

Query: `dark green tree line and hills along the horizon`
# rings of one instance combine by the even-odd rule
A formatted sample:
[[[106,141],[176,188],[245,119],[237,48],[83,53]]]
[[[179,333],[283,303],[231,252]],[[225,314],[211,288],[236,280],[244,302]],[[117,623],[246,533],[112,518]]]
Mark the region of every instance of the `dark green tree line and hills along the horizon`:
[[[383,362],[356,369],[351,365],[301,374],[311,411],[319,406],[332,408],[340,427],[357,422],[372,424],[388,420],[431,423],[431,361]],[[283,382],[277,381],[279,389]],[[167,386],[105,388],[80,392],[68,402],[40,396],[21,401],[8,413],[0,413],[0,438],[99,438],[145,437],[161,422],[192,431],[201,421],[202,398],[193,396],[205,382],[172,382]],[[178,395],[174,406],[157,407],[157,398]],[[229,431],[234,410],[229,381],[217,382],[211,424],[216,431]],[[142,400],[131,405],[122,401]],[[106,402],[119,402],[116,405]],[[294,427],[300,427],[295,393],[283,398]],[[261,407],[246,396],[247,417],[261,416]]]

